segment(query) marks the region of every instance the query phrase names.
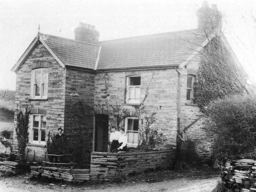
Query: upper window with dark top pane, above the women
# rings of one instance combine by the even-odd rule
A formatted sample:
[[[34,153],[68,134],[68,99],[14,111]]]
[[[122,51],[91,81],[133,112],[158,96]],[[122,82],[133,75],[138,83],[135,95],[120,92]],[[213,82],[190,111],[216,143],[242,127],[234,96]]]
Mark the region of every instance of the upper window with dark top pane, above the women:
[[[127,77],[127,103],[140,103],[140,76]]]

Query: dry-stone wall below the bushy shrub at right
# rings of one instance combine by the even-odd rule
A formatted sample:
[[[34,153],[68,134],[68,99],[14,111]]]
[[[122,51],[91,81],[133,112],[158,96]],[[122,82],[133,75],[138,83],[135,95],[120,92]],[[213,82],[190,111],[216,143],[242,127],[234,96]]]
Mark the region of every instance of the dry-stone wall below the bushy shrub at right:
[[[227,160],[220,168],[227,188],[236,192],[256,191],[256,160]]]

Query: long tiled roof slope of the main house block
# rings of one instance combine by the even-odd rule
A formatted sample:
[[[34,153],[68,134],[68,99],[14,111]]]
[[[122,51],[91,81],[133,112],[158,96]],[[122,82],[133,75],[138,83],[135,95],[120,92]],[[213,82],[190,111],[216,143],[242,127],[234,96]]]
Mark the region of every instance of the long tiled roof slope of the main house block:
[[[197,29],[101,41],[97,69],[178,65],[206,39]]]

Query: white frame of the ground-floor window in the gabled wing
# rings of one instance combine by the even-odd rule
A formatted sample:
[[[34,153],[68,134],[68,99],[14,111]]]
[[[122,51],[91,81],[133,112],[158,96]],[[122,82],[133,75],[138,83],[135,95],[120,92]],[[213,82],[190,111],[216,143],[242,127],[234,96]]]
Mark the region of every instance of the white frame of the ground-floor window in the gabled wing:
[[[34,116],[38,116],[39,117],[39,122],[38,122],[38,127],[34,127]],[[42,116],[45,116],[45,128],[42,128]],[[47,124],[47,121],[46,121],[46,115],[45,114],[31,114],[30,115],[30,138],[29,138],[29,141],[30,141],[30,144],[38,144],[38,145],[46,145],[46,124]],[[34,129],[38,129],[38,140],[34,140]],[[42,137],[42,129],[45,130],[45,141],[41,141],[41,137]]]

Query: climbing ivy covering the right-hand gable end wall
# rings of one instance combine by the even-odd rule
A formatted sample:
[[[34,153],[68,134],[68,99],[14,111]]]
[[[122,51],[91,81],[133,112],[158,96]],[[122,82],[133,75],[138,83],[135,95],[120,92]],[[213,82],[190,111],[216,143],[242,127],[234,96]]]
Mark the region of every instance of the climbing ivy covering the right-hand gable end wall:
[[[203,48],[201,64],[194,83],[193,102],[202,112],[217,98],[242,94],[245,90],[245,72],[234,62],[219,36]]]

